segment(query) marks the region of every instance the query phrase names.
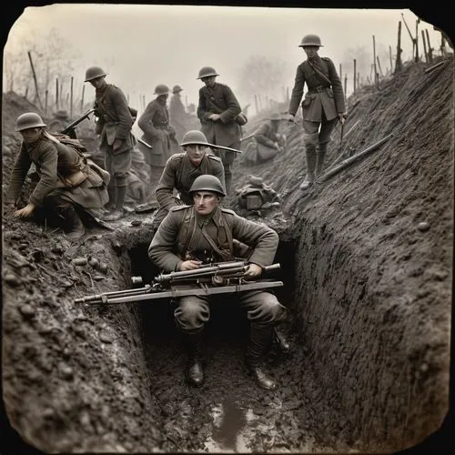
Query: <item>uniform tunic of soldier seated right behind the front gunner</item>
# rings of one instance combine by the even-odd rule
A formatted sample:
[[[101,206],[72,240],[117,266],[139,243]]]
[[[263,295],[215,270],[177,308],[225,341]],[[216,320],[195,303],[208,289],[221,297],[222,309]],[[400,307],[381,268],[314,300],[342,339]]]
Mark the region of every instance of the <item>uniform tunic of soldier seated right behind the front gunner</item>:
[[[176,198],[173,196],[174,189],[177,189],[184,204],[193,204],[193,198],[188,193],[189,188],[197,177],[204,174],[218,177],[224,187],[224,167],[218,157],[206,154],[198,166],[191,163],[186,152],[177,153],[167,160],[156,191],[160,208],[154,217],[155,226],[161,223],[172,207],[177,206]]]

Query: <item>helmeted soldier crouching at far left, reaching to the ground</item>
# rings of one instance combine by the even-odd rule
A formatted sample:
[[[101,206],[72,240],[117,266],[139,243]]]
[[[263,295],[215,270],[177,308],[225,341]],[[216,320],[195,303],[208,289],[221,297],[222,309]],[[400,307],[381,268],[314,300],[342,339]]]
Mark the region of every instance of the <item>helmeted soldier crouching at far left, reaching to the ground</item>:
[[[16,210],[14,216],[31,217],[39,207],[46,214],[54,214],[66,236],[76,240],[85,233],[80,215],[106,204],[109,175],[87,163],[81,152],[62,142],[64,139],[59,141],[49,135],[45,126],[35,112],[17,117],[15,131],[22,135],[23,142],[15,159],[5,205],[16,203],[33,163],[39,180],[28,204]]]

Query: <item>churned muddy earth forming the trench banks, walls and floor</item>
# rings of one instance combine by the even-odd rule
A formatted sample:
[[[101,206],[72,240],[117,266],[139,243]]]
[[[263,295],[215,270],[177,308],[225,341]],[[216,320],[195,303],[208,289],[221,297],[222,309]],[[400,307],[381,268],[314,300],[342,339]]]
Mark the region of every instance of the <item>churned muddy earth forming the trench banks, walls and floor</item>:
[[[113,231],[91,227],[71,244],[56,227],[4,213],[3,398],[15,441],[54,453],[391,452],[445,428],[453,58],[428,66],[408,64],[349,97],[342,150],[338,130],[328,167],[391,136],[308,193],[298,189],[299,125],[283,125],[288,148],[273,163],[236,161],[236,187],[252,174],[281,200],[248,214],[280,236],[277,293],[290,310],[280,329],[293,349],[270,353],[276,392],[243,369],[248,327],[227,305],[207,327],[207,381],[190,389],[167,300],[75,303],[157,274],[147,259],[152,214],[131,214]],[[39,109],[14,93],[3,99],[5,195],[15,118]]]

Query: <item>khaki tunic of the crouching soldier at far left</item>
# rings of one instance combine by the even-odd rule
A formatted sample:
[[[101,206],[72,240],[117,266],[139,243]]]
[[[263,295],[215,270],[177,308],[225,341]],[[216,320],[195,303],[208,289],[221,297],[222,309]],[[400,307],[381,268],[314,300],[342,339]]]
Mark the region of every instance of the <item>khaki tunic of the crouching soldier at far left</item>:
[[[44,205],[45,197],[55,195],[62,195],[85,208],[100,208],[109,200],[103,178],[92,167],[84,164],[74,148],[42,137],[34,144],[22,143],[7,189],[8,202],[15,202],[19,197],[32,163],[39,176],[30,196],[30,202],[36,207]],[[82,184],[74,188],[62,187],[61,177],[69,177],[81,169],[88,176]]]

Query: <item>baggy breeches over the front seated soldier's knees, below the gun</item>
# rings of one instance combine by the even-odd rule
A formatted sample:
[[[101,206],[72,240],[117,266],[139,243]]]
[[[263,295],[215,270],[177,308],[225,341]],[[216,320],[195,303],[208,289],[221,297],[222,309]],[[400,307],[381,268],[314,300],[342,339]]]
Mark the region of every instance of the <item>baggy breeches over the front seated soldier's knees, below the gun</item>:
[[[196,333],[204,328],[210,319],[210,303],[219,296],[186,296],[176,299],[177,308],[174,318],[177,327],[185,332]],[[247,310],[247,318],[251,322],[262,325],[275,325],[286,317],[287,309],[278,302],[278,298],[270,292],[262,290],[247,290],[227,294],[224,298],[232,301],[233,305]]]

